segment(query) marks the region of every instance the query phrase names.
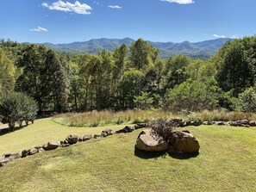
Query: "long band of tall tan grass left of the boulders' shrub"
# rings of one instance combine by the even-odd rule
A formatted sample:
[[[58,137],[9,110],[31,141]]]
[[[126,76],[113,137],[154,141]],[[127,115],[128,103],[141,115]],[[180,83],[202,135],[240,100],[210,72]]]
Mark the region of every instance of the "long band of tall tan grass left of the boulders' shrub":
[[[53,121],[71,127],[97,127],[104,125],[134,124],[153,121],[159,118],[169,119],[177,117],[170,112],[159,110],[127,110],[113,111],[91,111],[86,113],[67,113],[55,115]]]

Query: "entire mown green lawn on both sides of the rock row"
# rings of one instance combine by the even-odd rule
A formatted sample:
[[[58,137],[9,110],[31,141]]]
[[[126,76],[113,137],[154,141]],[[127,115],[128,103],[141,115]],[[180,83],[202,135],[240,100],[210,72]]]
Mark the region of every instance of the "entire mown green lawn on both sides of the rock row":
[[[0,136],[0,153],[102,129],[35,121]],[[17,159],[0,168],[0,191],[256,191],[255,127],[186,129],[199,140],[197,157],[134,151],[136,130]]]

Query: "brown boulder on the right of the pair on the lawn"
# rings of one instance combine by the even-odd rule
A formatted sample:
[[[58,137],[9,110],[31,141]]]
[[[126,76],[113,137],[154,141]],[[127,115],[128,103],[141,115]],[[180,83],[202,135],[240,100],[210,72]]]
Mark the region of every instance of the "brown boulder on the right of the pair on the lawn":
[[[198,140],[189,131],[174,131],[169,141],[170,152],[199,152]]]

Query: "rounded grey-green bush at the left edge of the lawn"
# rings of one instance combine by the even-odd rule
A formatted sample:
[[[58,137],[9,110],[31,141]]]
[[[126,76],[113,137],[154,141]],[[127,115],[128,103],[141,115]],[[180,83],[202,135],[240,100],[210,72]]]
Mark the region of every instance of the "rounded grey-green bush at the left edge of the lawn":
[[[28,125],[28,121],[34,121],[36,113],[36,102],[22,93],[9,92],[0,103],[0,115],[11,131],[14,131],[16,122],[22,125],[22,121],[26,121]]]

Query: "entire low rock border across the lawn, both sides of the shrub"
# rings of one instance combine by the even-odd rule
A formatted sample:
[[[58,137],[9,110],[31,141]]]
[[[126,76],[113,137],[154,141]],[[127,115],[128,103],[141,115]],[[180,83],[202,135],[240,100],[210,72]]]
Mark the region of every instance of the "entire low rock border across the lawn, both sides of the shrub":
[[[217,126],[233,126],[233,127],[256,127],[256,121],[240,120],[240,121],[183,121],[182,119],[171,119],[177,124],[177,127],[188,127],[188,126],[201,126],[201,125],[217,125]],[[8,164],[17,158],[26,158],[34,155],[38,152],[50,151],[59,147],[67,147],[74,145],[78,142],[84,142],[90,139],[105,138],[115,133],[131,133],[136,129],[147,127],[147,123],[138,123],[134,127],[126,126],[120,130],[114,131],[112,129],[104,129],[101,134],[84,134],[79,137],[75,134],[70,134],[66,139],[61,141],[49,141],[43,146],[34,146],[31,149],[22,150],[22,152],[6,153],[0,156],[0,167],[4,164]]]

